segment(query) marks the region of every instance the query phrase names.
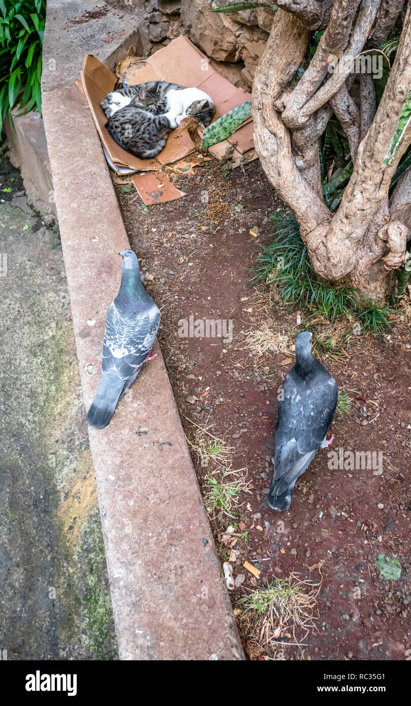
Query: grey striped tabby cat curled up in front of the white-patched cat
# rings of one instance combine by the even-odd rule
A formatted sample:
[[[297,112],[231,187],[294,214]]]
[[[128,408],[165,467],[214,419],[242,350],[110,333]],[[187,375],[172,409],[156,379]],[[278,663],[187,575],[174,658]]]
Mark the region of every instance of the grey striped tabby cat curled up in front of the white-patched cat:
[[[165,115],[153,115],[130,104],[109,117],[105,128],[123,150],[141,160],[151,160],[164,149],[172,124]]]

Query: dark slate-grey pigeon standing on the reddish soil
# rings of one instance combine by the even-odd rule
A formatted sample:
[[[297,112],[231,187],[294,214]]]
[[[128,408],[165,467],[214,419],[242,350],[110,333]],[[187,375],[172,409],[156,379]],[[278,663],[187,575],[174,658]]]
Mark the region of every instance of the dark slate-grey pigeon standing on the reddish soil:
[[[309,331],[297,336],[296,362],[284,381],[275,427],[274,479],[268,493],[273,510],[288,510],[295,481],[318,448],[326,448],[334,438],[327,441],[326,437],[337,407],[338,387],[311,353],[311,342]]]

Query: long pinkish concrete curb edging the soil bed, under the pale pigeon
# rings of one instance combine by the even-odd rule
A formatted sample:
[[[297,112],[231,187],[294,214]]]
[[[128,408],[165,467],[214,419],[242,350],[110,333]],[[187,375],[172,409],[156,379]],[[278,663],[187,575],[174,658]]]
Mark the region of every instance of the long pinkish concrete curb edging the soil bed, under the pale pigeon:
[[[47,5],[44,65],[56,42],[64,47],[61,14],[70,6]],[[71,48],[71,65],[73,52],[80,71],[82,49]],[[119,287],[117,253],[129,240],[71,65],[64,85],[43,83],[43,115],[88,407],[100,378],[107,306]],[[165,364],[155,350],[159,355],[109,427],[89,430],[119,654],[245,659]]]

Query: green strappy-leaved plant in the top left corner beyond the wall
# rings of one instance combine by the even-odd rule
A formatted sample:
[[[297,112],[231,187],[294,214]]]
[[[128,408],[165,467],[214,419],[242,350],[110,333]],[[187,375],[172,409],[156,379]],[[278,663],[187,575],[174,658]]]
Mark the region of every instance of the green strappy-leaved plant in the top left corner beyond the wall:
[[[45,0],[0,0],[0,124],[18,106],[42,111]]]

